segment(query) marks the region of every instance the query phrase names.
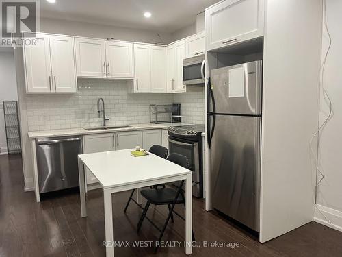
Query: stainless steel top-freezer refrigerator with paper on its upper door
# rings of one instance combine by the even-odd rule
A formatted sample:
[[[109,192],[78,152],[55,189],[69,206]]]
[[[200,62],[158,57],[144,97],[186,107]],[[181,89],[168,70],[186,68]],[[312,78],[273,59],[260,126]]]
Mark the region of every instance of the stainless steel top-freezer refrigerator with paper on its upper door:
[[[209,84],[213,208],[258,232],[262,61],[211,70]]]

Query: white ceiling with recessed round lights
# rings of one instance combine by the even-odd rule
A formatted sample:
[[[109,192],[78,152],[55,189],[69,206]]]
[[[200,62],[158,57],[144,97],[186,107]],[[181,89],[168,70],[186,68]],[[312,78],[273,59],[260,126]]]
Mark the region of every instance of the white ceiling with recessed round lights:
[[[40,16],[172,33],[219,0],[40,0]],[[151,12],[146,19],[144,12]]]

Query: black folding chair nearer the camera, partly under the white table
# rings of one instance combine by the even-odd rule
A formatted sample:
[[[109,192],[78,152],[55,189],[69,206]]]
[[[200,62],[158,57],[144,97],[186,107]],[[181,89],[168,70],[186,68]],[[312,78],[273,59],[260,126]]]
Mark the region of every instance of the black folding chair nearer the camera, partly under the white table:
[[[182,167],[185,168],[189,168],[189,160],[187,159],[186,156],[182,156],[181,154],[170,154],[170,156],[168,157],[168,160],[170,160],[170,162],[174,162],[176,164],[179,164]],[[157,225],[155,225],[155,223],[153,223],[153,221],[151,221],[150,219],[148,219],[148,217],[146,217],[146,219],[148,221],[150,221],[150,223],[152,223],[152,225],[157,228],[157,230],[159,230],[159,232],[161,233],[158,241],[160,243],[161,238],[163,237],[163,234],[166,230],[166,226],[168,225],[168,221],[171,219],[173,221],[173,215],[172,213],[176,214],[177,216],[179,216],[181,219],[184,219],[184,217],[182,217],[181,215],[179,215],[178,212],[176,212],[174,210],[174,206],[176,204],[184,204],[185,207],[185,197],[182,191],[182,186],[184,184],[184,180],[181,181],[181,183],[179,184],[179,187],[177,188],[177,190],[174,190],[172,188],[155,188],[155,189],[144,189],[142,191],[140,191],[140,193],[142,194],[142,196],[147,200],[145,208],[142,212],[142,216],[140,217],[140,221],[139,223],[137,223],[137,233],[139,233],[140,228],[142,228],[142,222],[144,221],[145,217],[146,217],[146,213],[148,208],[150,207],[150,204],[155,204],[155,205],[168,205],[168,217],[166,218],[166,221],[163,225],[162,229],[159,229],[157,227]],[[195,240],[194,237],[194,232],[192,232],[192,238],[193,240]],[[160,244],[159,244],[160,245]],[[155,252],[157,252],[158,249],[158,245],[155,245]]]

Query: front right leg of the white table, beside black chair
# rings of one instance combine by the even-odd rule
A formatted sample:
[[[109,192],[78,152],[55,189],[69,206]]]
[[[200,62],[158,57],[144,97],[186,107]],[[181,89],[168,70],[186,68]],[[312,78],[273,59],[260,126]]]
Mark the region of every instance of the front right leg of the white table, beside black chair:
[[[185,254],[192,254],[192,174],[185,182]]]

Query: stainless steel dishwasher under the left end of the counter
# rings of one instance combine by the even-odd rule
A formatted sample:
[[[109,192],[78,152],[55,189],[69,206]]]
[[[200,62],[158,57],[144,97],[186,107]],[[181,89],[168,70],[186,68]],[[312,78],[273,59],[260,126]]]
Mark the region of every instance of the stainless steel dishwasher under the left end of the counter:
[[[36,139],[39,192],[47,193],[79,186],[77,155],[81,136]]]

